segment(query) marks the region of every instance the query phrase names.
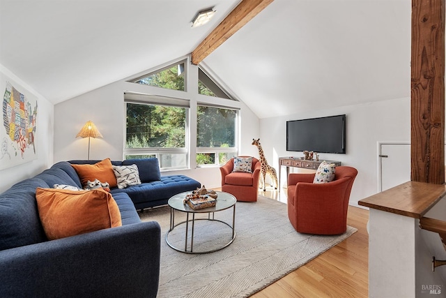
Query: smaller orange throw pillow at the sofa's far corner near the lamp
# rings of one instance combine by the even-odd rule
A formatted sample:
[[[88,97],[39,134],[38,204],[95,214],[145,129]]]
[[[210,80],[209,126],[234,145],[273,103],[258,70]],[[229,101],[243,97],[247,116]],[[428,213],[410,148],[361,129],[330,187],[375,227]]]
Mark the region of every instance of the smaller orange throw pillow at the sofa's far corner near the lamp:
[[[95,181],[95,179],[102,183],[108,182],[110,187],[118,185],[110,158],[105,158],[105,160],[94,165],[72,165],[72,167],[75,168],[77,175],[81,179],[82,187],[86,186],[87,181]]]

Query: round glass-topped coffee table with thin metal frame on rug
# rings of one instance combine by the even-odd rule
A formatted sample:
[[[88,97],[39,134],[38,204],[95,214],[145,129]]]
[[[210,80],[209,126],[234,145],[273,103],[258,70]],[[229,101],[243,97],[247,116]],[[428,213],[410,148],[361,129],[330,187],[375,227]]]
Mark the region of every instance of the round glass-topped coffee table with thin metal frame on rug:
[[[226,246],[229,246],[234,239],[236,239],[236,230],[234,230],[234,225],[236,223],[236,198],[231,195],[230,193],[224,193],[222,191],[217,191],[217,204],[215,204],[214,207],[206,207],[203,209],[197,209],[194,210],[191,207],[189,207],[188,204],[184,204],[183,200],[185,199],[185,196],[187,194],[190,194],[192,192],[187,191],[185,193],[178,193],[178,195],[174,195],[172,198],[169,199],[169,207],[170,209],[170,228],[169,231],[166,233],[166,243],[171,248],[174,248],[176,251],[180,251],[182,253],[213,253],[215,251],[220,251],[221,249],[225,248]],[[215,219],[215,212],[223,211],[229,208],[233,208],[232,212],[232,225],[230,223],[226,223],[224,221],[220,221],[218,219]],[[180,223],[175,224],[175,211],[184,212],[186,214],[186,220],[182,221]],[[208,214],[207,218],[195,218],[196,214]],[[212,214],[212,215],[211,215]],[[192,215],[192,219],[190,219],[190,215]],[[194,225],[195,221],[213,221],[213,222],[219,222],[224,223],[224,225],[227,225],[232,232],[232,237],[229,239],[229,242],[224,243],[222,246],[219,246],[217,248],[213,248],[211,250],[207,251],[194,251]],[[191,229],[191,237],[190,237],[190,248],[187,247],[187,237],[189,232],[189,224],[192,224]],[[174,246],[171,242],[169,242],[169,234],[174,230],[174,228],[178,227],[178,225],[185,225],[185,244],[184,249],[178,248]]]

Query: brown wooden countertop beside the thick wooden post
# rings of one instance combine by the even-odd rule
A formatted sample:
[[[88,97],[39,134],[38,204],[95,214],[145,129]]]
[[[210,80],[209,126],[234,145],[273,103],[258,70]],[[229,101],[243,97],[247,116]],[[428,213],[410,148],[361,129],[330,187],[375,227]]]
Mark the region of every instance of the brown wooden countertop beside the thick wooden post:
[[[362,199],[358,204],[403,216],[422,218],[444,195],[445,184],[408,181]]]

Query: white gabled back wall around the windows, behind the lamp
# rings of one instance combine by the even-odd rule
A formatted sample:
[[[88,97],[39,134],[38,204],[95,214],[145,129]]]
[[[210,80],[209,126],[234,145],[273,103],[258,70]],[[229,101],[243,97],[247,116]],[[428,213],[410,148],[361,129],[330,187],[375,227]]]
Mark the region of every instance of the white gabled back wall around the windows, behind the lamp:
[[[165,65],[169,65],[169,62]],[[187,64],[189,76],[187,86],[189,90],[197,90],[197,66]],[[144,75],[152,70],[136,74]],[[125,104],[124,91],[134,91],[144,94],[157,94],[172,96],[190,100],[190,137],[197,139],[196,113],[194,106],[197,102],[213,103],[240,108],[240,155],[256,156],[256,147],[251,145],[252,139],[259,136],[259,119],[242,102],[224,100],[222,98],[209,98],[195,92],[183,92],[165,90],[157,87],[144,86],[121,80],[105,87],[95,89],[81,96],[66,100],[54,106],[54,162],[68,161],[72,159],[86,159],[88,155],[88,140],[76,139],[75,136],[84,126],[86,121],[93,121],[102,133],[103,139],[91,139],[90,159],[111,158],[112,160],[123,159],[123,144],[125,138]],[[195,156],[195,147],[192,146],[191,156]],[[186,174],[197,179],[208,188],[221,186],[219,167],[197,168],[194,158],[191,158],[191,169],[181,171],[162,172],[167,174]]]

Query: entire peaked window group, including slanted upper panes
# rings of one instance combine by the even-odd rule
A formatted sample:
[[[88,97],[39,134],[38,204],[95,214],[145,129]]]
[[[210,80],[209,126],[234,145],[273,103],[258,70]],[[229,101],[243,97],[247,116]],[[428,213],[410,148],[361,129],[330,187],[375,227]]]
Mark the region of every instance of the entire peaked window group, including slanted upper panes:
[[[196,87],[187,84],[191,69],[197,71]],[[206,167],[222,165],[236,156],[238,108],[231,106],[237,100],[210,73],[182,59],[128,80],[146,86],[132,85],[132,91],[124,92],[123,158],[155,157],[161,170],[174,170],[190,167],[194,158],[197,166]],[[192,76],[192,82],[197,78]],[[197,107],[197,114],[190,114],[191,104],[192,110]],[[197,121],[197,131],[190,130],[190,117]],[[190,134],[197,137],[197,148],[191,148]]]

